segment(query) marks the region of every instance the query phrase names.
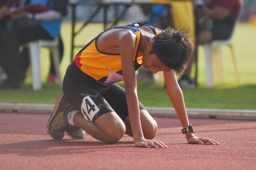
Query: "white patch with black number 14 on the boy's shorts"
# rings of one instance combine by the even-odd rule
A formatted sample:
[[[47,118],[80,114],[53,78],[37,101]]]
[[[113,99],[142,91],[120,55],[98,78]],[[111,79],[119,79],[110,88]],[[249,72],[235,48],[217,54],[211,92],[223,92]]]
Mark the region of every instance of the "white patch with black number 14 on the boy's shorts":
[[[96,113],[99,112],[99,110],[100,109],[96,106],[96,104],[90,98],[90,96],[84,97],[82,105],[81,105],[81,111],[86,120],[92,121],[94,115],[96,115]]]

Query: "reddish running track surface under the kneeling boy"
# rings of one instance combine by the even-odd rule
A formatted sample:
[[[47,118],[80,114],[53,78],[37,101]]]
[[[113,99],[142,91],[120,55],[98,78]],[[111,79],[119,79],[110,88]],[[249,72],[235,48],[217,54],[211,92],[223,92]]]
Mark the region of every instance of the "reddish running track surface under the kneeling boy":
[[[195,135],[221,145],[188,144],[178,118],[154,117],[155,139],[166,149],[134,147],[124,136],[105,144],[89,135],[54,140],[46,130],[49,114],[0,113],[0,169],[256,169],[256,121],[190,118]]]

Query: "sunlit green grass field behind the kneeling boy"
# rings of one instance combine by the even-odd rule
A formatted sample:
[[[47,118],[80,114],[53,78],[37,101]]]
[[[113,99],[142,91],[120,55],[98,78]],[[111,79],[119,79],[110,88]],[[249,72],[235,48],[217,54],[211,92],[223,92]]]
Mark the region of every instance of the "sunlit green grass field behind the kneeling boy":
[[[89,24],[75,39],[76,44],[85,45],[102,31],[102,24]],[[87,31],[87,32],[86,32]],[[88,32],[90,31],[90,32]],[[205,59],[202,47],[199,47],[198,84],[195,89],[182,89],[187,108],[212,109],[247,109],[256,110],[256,28],[248,24],[239,24],[233,38],[234,50],[237,56],[241,83],[238,84],[234,74],[231,55],[227,47],[222,48],[224,80],[218,82],[215,73],[215,87],[205,87]],[[63,60],[60,65],[62,77],[70,63],[71,25],[63,23],[61,30],[65,46]],[[80,49],[74,50],[76,54]],[[1,103],[45,103],[54,104],[62,90],[56,84],[45,83],[49,71],[49,56],[47,49],[41,49],[41,71],[43,89],[33,91],[31,76],[25,80],[21,90],[0,91]],[[119,83],[123,86],[123,83]],[[138,96],[146,107],[173,107],[166,89],[161,85],[138,83]]]

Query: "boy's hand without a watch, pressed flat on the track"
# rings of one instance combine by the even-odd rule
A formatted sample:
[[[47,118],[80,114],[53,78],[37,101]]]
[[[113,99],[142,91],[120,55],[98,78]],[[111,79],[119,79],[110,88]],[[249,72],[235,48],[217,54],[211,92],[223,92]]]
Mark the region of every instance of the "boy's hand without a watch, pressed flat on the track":
[[[165,144],[161,141],[156,141],[156,140],[148,140],[145,138],[140,138],[135,140],[134,143],[136,147],[145,147],[145,148],[167,148]]]

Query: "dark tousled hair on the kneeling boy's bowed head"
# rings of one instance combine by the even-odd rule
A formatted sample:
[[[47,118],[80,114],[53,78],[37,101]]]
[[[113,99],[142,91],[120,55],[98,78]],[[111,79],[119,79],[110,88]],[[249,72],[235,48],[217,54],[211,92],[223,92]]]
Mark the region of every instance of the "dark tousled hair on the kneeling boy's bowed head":
[[[176,74],[182,74],[195,48],[188,33],[184,28],[174,30],[168,27],[154,36],[149,53],[156,54],[161,63],[173,69]]]

